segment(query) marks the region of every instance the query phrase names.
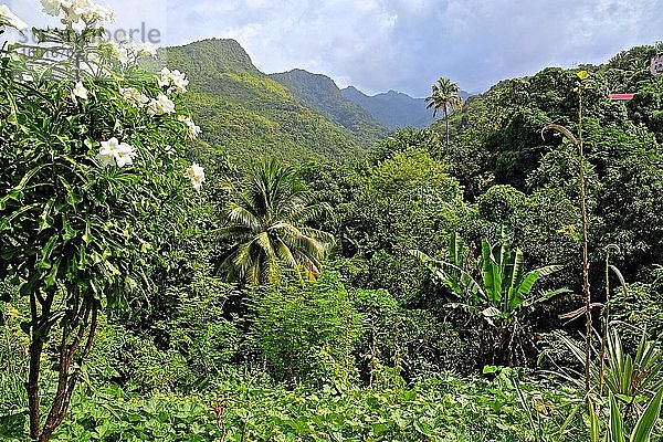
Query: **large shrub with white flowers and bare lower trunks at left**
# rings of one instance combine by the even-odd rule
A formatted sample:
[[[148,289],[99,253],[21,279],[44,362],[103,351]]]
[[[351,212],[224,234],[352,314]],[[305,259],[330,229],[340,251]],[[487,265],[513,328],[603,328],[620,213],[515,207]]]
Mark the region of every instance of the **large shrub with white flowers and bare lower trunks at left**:
[[[0,281],[29,297],[27,390],[30,435],[48,441],[62,422],[101,307],[126,305],[149,284],[159,244],[186,223],[206,180],[185,160],[200,128],[182,106],[178,71],[136,63],[145,44],[101,43],[110,9],[91,0],[41,0],[63,29],[0,52]],[[3,27],[27,28],[7,7]],[[8,301],[8,299],[6,299]],[[57,338],[55,339],[54,336]],[[59,381],[40,415],[40,367],[57,345]]]

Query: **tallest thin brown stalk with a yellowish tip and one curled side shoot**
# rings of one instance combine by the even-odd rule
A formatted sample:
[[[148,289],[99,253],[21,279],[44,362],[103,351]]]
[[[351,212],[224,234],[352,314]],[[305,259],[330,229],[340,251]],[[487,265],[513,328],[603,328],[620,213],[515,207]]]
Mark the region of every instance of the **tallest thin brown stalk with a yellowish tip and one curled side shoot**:
[[[590,87],[589,73],[587,71],[580,71],[578,73],[578,82],[573,92],[578,94],[578,138],[566,127],[551,124],[543,128],[541,136],[547,130],[557,130],[562,134],[569,141],[571,141],[577,148],[580,159],[580,168],[578,172],[578,180],[580,187],[580,212],[582,215],[582,292],[585,294],[585,318],[586,318],[586,335],[585,335],[585,390],[589,393],[590,390],[590,362],[591,362],[591,335],[592,335],[592,322],[591,322],[591,291],[589,286],[589,235],[588,235],[588,221],[587,221],[587,191],[585,185],[585,144],[582,139],[582,92]]]

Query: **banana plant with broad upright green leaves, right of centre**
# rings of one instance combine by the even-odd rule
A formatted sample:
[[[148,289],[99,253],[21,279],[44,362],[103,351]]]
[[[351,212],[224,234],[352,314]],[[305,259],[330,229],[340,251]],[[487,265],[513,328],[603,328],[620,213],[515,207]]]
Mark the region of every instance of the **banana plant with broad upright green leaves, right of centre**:
[[[561,266],[548,265],[525,272],[523,251],[512,248],[504,229],[501,236],[496,245],[482,240],[481,255],[476,259],[457,233],[449,239],[444,261],[420,251],[411,251],[411,254],[427,264],[459,299],[450,306],[478,314],[492,325],[515,315],[524,317],[552,296],[569,292],[561,288],[535,295],[537,281]]]

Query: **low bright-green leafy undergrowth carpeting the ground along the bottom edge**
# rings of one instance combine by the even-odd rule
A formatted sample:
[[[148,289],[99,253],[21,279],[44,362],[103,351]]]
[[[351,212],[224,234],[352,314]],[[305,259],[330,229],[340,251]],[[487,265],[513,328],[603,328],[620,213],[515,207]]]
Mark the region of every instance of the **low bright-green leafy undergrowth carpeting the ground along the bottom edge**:
[[[540,381],[520,391],[504,376],[343,392],[238,383],[151,398],[106,387],[78,396],[54,441],[527,441],[558,431],[577,400]]]

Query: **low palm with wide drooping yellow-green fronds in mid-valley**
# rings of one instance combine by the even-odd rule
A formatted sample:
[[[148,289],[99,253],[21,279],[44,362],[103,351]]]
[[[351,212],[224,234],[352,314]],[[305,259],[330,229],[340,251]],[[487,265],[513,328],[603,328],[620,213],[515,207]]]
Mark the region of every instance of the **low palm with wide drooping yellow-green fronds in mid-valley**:
[[[260,284],[274,281],[281,265],[298,269],[307,280],[320,274],[320,261],[334,238],[306,223],[328,211],[312,203],[311,193],[292,167],[276,160],[253,168],[248,189],[225,208],[222,232],[232,246],[221,269],[230,281]]]

